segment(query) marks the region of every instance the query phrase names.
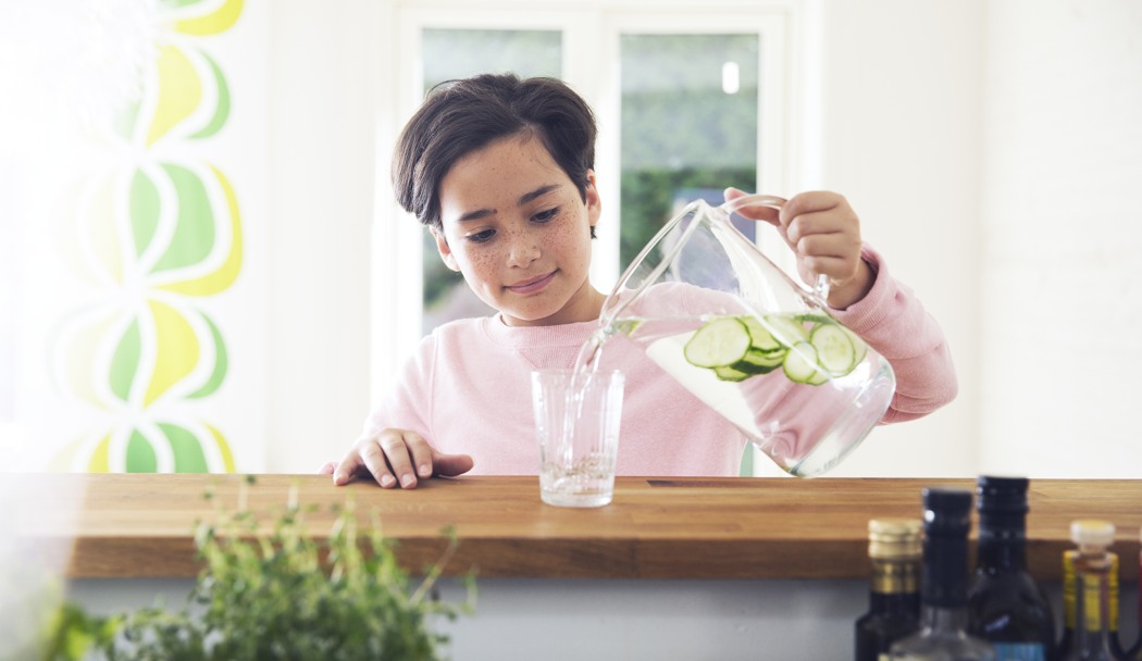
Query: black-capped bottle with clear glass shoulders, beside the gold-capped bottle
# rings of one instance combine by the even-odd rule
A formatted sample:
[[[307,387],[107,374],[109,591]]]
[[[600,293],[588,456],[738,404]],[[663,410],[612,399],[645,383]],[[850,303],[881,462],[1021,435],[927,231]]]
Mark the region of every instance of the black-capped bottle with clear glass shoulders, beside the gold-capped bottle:
[[[967,530],[972,493],[924,490],[920,630],[892,645],[895,661],[994,661],[984,640],[967,634]]]

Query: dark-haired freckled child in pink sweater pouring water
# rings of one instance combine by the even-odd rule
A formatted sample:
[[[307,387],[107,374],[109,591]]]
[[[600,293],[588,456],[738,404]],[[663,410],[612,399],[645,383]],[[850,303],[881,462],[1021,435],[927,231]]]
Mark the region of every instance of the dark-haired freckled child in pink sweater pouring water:
[[[412,116],[393,160],[397,201],[499,313],[443,324],[421,340],[361,437],[322,469],[336,484],[371,476],[411,489],[469,470],[538,473],[530,372],[570,368],[606,298],[588,280],[602,216],[594,151],[590,108],[554,79],[453,81]],[[803,193],[780,212],[742,213],[778,227],[803,276],[827,275],[833,314],[890,361],[896,395],[882,422],[925,416],[956,396],[943,333],[862,244],[843,196]],[[619,357],[618,474],[735,475],[745,435],[645,357]]]

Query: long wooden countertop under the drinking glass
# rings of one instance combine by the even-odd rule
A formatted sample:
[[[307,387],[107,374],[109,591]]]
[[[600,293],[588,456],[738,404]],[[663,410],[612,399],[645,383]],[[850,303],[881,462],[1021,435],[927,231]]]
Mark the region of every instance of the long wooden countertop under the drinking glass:
[[[234,475],[16,475],[22,543],[70,546],[77,578],[193,577],[193,529],[214,515],[203,493],[239,501]],[[352,497],[362,518],[380,515],[385,534],[410,570],[434,563],[456,526],[459,547],[445,573],[475,566],[481,577],[549,578],[864,578],[868,519],[920,515],[920,489],[972,489],[971,479],[636,478],[616,483],[614,502],[564,509],[539,500],[536,477],[459,477],[413,491],[359,482],[335,487],[315,475],[263,475],[246,490],[250,508],[280,509],[297,486],[315,537],[331,522],[327,506]],[[1035,479],[1028,564],[1057,578],[1071,548],[1070,522],[1104,518],[1118,526],[1121,578],[1137,577],[1142,481]]]

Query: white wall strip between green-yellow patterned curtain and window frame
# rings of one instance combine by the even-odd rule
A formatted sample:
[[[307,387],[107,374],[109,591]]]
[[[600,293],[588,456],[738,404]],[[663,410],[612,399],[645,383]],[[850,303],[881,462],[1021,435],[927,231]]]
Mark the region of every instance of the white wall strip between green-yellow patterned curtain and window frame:
[[[369,409],[384,5],[274,2],[267,469],[339,459]]]

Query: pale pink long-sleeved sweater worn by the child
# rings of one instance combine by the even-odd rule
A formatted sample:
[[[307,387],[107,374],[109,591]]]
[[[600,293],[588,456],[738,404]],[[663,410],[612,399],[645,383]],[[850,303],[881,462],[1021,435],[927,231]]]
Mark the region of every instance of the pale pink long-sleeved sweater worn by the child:
[[[896,394],[882,422],[919,418],[956,396],[956,372],[939,324],[879,256],[871,291],[834,316],[888,362]],[[425,337],[372,412],[367,432],[410,429],[442,452],[471,454],[473,475],[534,475],[539,451],[531,371],[571,368],[598,322],[508,327],[499,315],[447,323]],[[604,366],[626,372],[619,475],[737,475],[748,440],[648,360],[633,342],[609,342]]]

